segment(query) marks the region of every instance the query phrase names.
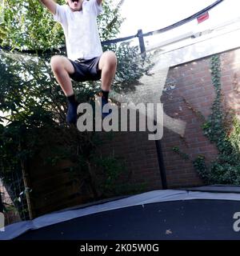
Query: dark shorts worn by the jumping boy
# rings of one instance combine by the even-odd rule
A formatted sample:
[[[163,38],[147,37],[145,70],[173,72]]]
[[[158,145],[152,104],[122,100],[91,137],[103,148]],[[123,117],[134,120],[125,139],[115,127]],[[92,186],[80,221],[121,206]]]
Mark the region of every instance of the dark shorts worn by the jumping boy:
[[[101,78],[101,70],[98,69],[98,62],[101,56],[91,59],[79,58],[75,61],[70,60],[74,65],[74,74],[70,78],[77,82],[96,81]]]

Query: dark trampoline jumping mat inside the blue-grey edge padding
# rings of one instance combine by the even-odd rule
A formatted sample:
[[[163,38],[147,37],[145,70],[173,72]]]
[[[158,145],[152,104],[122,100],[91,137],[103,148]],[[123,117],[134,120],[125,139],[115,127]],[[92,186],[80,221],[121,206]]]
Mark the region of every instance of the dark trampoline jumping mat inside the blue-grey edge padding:
[[[29,230],[24,240],[240,239],[234,213],[240,201],[196,199],[108,210]]]

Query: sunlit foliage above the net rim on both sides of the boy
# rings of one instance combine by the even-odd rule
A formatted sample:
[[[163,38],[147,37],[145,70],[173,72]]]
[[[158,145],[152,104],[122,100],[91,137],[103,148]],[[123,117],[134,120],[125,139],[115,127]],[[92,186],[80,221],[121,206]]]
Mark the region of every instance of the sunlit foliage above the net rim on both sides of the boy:
[[[64,4],[65,0],[58,0]],[[111,0],[103,4],[104,12],[98,16],[102,41],[115,38],[123,19],[120,10]],[[18,50],[49,50],[64,46],[64,34],[60,24],[38,0],[6,0],[4,22],[1,24],[0,42]]]

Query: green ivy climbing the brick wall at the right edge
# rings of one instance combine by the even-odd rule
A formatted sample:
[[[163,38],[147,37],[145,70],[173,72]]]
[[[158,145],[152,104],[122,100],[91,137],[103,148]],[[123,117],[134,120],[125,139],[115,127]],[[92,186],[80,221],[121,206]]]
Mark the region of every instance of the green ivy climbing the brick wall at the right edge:
[[[211,58],[212,83],[216,97],[212,106],[212,114],[203,123],[202,129],[210,142],[218,148],[218,157],[206,166],[205,158],[199,156],[194,160],[194,167],[201,177],[210,184],[240,184],[240,122],[234,114],[224,115],[221,94],[220,59],[216,55]],[[229,120],[230,118],[230,120]]]

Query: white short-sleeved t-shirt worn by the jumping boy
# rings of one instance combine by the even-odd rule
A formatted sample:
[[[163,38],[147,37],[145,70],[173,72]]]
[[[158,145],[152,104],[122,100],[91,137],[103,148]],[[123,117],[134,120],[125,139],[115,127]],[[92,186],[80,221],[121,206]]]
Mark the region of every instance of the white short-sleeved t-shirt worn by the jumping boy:
[[[83,0],[81,11],[72,11],[67,5],[57,4],[54,20],[62,25],[66,38],[66,53],[71,60],[95,58],[102,54],[97,16],[102,5],[96,0]]]

